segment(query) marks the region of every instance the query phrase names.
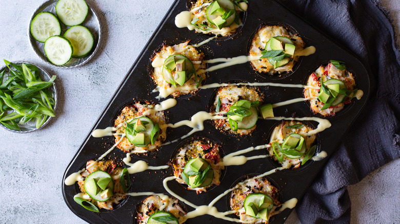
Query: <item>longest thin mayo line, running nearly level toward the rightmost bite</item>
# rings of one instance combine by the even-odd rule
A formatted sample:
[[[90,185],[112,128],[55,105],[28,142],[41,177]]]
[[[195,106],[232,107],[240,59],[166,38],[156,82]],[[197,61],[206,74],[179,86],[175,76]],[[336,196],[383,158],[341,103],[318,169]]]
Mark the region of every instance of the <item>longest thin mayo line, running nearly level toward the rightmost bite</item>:
[[[319,89],[319,87],[315,87],[312,85],[302,85],[302,84],[283,84],[283,83],[273,83],[273,82],[239,82],[239,83],[211,83],[208,85],[198,86],[199,89],[207,89],[207,88],[216,88],[223,86],[234,86],[234,85],[250,85],[250,86],[277,86],[277,87],[288,87],[288,88],[315,88]],[[196,86],[171,86],[169,88],[159,87],[157,86],[153,89],[152,93],[158,92],[157,99],[166,98],[171,95],[175,91],[193,91],[197,89]]]

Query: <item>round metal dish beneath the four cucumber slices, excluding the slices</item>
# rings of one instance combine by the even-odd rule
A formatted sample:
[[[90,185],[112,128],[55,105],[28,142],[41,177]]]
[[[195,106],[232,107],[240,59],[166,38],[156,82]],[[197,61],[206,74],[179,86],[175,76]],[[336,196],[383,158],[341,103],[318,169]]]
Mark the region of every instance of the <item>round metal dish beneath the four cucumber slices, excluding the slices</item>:
[[[85,18],[85,21],[81,25],[88,28],[89,31],[91,32],[91,34],[93,35],[93,39],[94,39],[93,48],[90,51],[88,56],[85,56],[83,58],[71,58],[64,65],[55,65],[55,64],[51,63],[46,57],[45,50],[44,50],[45,43],[39,42],[39,41],[35,40],[35,38],[32,37],[32,34],[30,32],[30,25],[32,23],[32,19],[40,12],[51,12],[54,15],[56,15],[55,5],[57,4],[57,2],[58,2],[58,0],[48,0],[48,1],[44,2],[41,6],[39,6],[35,10],[35,12],[32,14],[32,17],[31,17],[31,20],[29,21],[29,26],[28,26],[29,41],[31,43],[31,47],[32,47],[33,51],[44,62],[51,64],[53,66],[57,66],[58,68],[62,68],[62,69],[76,68],[76,67],[81,66],[81,65],[85,64],[86,62],[88,62],[96,54],[96,52],[100,46],[101,39],[102,39],[101,21],[99,20],[97,13],[94,11],[94,9],[90,5],[90,3],[86,2],[86,4],[89,7],[89,10],[88,10],[88,14]],[[60,25],[61,25],[61,34],[63,35],[70,27],[64,25],[61,22],[60,22]]]

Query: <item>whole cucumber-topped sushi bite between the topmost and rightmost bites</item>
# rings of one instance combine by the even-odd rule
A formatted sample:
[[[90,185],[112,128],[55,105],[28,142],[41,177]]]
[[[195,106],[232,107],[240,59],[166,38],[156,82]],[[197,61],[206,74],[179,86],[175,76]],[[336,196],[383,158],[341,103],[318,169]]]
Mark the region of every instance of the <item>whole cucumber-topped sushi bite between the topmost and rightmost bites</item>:
[[[250,46],[250,56],[261,56],[250,61],[253,69],[269,75],[292,72],[298,61],[297,52],[305,46],[301,37],[281,26],[262,26],[255,33]]]

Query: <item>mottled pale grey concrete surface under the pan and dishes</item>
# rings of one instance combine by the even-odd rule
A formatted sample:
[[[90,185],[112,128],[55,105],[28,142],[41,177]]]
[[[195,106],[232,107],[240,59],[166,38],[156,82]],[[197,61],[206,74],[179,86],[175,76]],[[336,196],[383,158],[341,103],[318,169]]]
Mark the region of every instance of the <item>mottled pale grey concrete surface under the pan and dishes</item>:
[[[1,1],[0,59],[31,61],[57,75],[59,104],[57,117],[42,130],[16,134],[0,128],[0,223],[85,223],[64,203],[64,170],[173,2],[87,1],[102,19],[104,39],[91,62],[72,70],[45,64],[29,46],[29,20],[42,1]],[[400,27],[399,1],[383,5]],[[399,223],[399,167],[400,160],[393,161],[349,187],[352,222],[389,217]],[[295,212],[287,223],[299,223]]]

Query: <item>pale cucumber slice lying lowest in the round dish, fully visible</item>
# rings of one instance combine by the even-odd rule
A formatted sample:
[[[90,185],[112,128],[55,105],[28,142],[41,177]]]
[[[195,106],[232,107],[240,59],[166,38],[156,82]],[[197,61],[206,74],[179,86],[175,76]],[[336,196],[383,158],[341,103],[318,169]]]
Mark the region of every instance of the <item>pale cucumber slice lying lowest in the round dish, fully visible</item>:
[[[73,53],[71,42],[62,36],[49,37],[45,42],[44,49],[47,59],[55,65],[67,63]]]

